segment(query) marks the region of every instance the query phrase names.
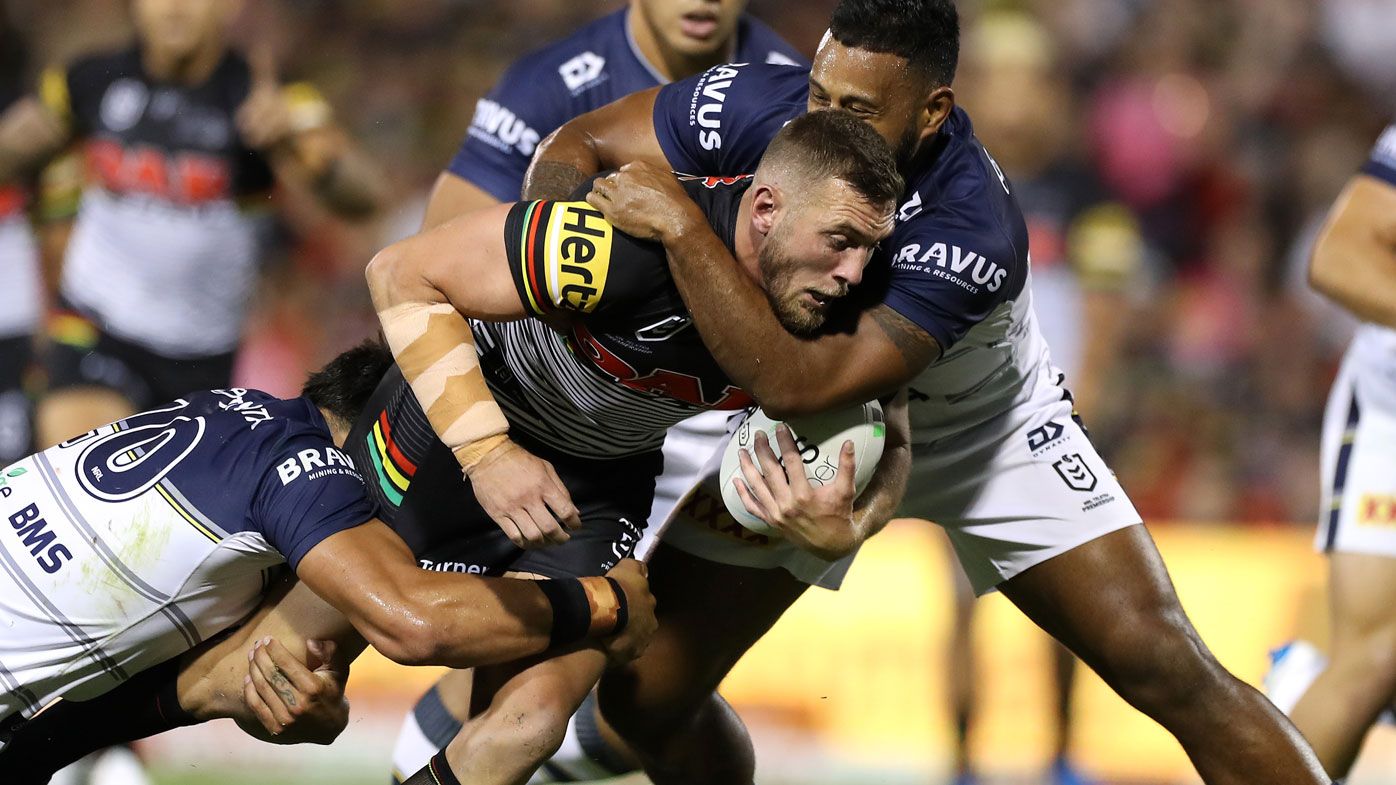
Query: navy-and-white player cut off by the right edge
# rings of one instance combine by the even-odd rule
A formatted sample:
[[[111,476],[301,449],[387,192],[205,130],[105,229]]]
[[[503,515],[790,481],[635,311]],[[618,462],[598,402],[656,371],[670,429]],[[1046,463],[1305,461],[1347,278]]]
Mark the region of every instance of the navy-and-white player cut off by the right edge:
[[[1329,556],[1332,652],[1290,644],[1266,687],[1340,779],[1396,700],[1396,124],[1337,197],[1309,282],[1362,320],[1323,415],[1315,545]]]

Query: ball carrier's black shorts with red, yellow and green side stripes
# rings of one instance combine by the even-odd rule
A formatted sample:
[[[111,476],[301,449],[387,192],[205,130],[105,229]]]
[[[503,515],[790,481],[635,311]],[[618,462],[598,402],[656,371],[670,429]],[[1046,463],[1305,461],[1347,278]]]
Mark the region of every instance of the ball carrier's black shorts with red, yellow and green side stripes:
[[[571,493],[582,528],[565,543],[524,550],[510,542],[475,500],[455,455],[436,437],[396,366],[349,432],[345,450],[363,472],[378,517],[402,536],[423,568],[584,577],[604,574],[634,553],[663,467],[658,450],[593,460],[567,455],[526,434],[510,437],[550,461]]]

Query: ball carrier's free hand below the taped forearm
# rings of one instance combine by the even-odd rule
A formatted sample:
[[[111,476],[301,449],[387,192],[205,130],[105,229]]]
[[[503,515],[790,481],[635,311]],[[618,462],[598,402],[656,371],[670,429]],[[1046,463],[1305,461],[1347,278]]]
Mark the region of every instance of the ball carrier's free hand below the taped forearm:
[[[465,476],[480,507],[519,548],[567,542],[567,531],[582,525],[553,464],[514,441],[491,450]]]

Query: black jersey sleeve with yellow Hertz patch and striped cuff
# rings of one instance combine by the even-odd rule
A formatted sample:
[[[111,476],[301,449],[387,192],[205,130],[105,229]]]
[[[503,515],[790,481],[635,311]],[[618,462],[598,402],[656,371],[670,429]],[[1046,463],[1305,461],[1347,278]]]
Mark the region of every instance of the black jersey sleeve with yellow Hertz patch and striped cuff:
[[[519,299],[539,317],[642,305],[669,272],[663,247],[617,232],[585,201],[521,201],[504,233]]]

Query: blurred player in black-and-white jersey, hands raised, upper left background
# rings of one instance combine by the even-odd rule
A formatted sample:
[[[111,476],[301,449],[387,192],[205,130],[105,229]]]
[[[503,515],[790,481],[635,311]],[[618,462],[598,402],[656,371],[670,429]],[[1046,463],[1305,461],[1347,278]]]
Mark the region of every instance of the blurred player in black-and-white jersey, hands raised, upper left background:
[[[236,7],[135,0],[135,45],[46,71],[0,116],[0,183],[71,142],[92,179],[50,323],[42,444],[229,384],[257,278],[244,208],[276,180],[350,218],[378,204],[378,177],[324,99],[229,49]]]

